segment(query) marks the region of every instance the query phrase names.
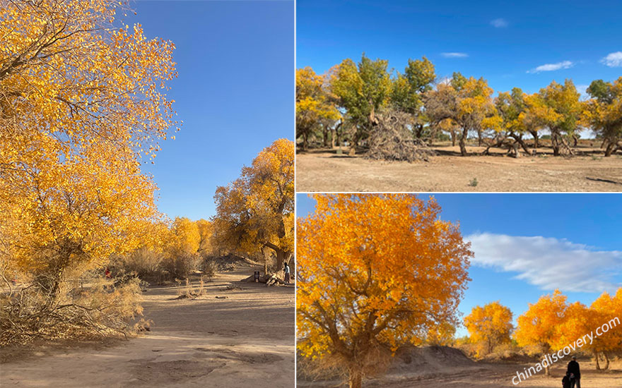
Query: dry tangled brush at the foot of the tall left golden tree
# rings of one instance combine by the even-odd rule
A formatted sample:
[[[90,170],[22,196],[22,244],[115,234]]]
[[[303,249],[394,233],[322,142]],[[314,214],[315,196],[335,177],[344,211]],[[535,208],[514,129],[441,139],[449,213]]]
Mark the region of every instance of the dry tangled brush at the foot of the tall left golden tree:
[[[90,339],[133,332],[130,323],[142,314],[139,279],[83,279],[84,286],[63,281],[52,295],[31,283],[0,297],[0,346],[34,339]]]

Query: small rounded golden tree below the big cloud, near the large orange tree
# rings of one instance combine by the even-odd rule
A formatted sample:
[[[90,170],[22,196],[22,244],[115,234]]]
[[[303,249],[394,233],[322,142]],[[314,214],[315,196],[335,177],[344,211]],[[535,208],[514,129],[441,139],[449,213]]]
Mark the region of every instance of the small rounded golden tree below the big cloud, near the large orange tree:
[[[498,301],[475,306],[464,317],[470,340],[476,345],[476,356],[491,353],[495,346],[510,342],[513,329],[512,312]]]

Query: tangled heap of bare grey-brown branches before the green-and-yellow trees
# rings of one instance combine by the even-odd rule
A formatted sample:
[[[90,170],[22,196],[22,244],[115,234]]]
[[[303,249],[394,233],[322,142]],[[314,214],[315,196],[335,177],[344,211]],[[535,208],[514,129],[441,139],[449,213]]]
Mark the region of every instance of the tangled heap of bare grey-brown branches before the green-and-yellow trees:
[[[382,160],[426,161],[435,152],[421,139],[414,138],[412,119],[395,109],[385,109],[377,114],[377,125],[367,140],[369,150],[365,157]]]

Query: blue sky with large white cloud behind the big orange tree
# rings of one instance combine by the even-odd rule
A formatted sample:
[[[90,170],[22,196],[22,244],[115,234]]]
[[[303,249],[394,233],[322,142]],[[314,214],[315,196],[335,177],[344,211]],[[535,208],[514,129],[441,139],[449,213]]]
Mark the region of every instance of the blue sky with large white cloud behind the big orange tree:
[[[602,289],[622,286],[621,194],[418,197],[430,195],[442,207],[441,218],[459,222],[462,236],[472,240],[462,313],[498,300],[516,318],[556,287],[569,301],[589,304]],[[315,200],[306,194],[296,200],[298,217],[314,211]]]

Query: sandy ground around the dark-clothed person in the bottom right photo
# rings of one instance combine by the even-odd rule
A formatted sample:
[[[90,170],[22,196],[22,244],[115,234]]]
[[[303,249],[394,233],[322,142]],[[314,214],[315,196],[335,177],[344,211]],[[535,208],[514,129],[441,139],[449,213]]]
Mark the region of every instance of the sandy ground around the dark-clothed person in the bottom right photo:
[[[581,387],[583,388],[620,388],[622,387],[622,365],[611,367],[607,371],[594,370],[594,364],[581,363]],[[447,368],[445,372],[417,375],[416,373],[401,375],[389,374],[363,383],[363,388],[509,388],[509,387],[532,387],[532,388],[560,388],[561,378],[565,372],[564,366],[551,368],[551,377],[539,375],[529,377],[527,380],[515,385],[512,377],[517,370],[523,372],[523,368],[531,366],[527,364],[476,364],[470,368]],[[517,380],[515,380],[517,381]],[[299,381],[298,388],[333,388],[347,387],[337,381],[330,382],[305,382]]]

